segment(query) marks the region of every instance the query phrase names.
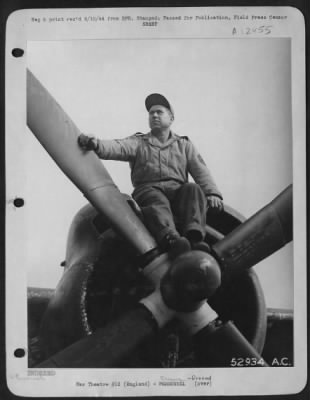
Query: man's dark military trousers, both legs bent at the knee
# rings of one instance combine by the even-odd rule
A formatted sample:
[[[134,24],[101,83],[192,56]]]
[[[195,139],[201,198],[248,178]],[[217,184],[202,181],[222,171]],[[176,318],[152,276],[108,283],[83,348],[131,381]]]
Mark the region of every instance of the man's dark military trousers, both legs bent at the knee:
[[[144,223],[158,243],[170,233],[182,236],[195,231],[205,235],[207,202],[196,183],[175,181],[144,185],[132,197],[141,208]]]

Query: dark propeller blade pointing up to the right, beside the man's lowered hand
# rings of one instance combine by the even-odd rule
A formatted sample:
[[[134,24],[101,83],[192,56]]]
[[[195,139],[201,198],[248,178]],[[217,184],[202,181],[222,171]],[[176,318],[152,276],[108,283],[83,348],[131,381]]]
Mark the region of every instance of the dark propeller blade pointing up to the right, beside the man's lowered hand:
[[[253,267],[293,239],[292,198],[290,185],[213,246],[225,278]]]

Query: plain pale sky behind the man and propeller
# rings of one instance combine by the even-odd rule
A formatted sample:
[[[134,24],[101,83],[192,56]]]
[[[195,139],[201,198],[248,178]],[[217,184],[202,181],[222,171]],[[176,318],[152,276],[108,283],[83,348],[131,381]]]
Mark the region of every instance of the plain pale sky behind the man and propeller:
[[[99,138],[148,131],[145,97],[164,94],[172,129],[193,141],[226,204],[250,217],[292,183],[288,39],[28,42],[28,68],[78,128]],[[83,195],[26,129],[28,286],[54,288]],[[104,161],[131,193],[127,163]],[[268,307],[293,307],[292,244],[255,267]]]

